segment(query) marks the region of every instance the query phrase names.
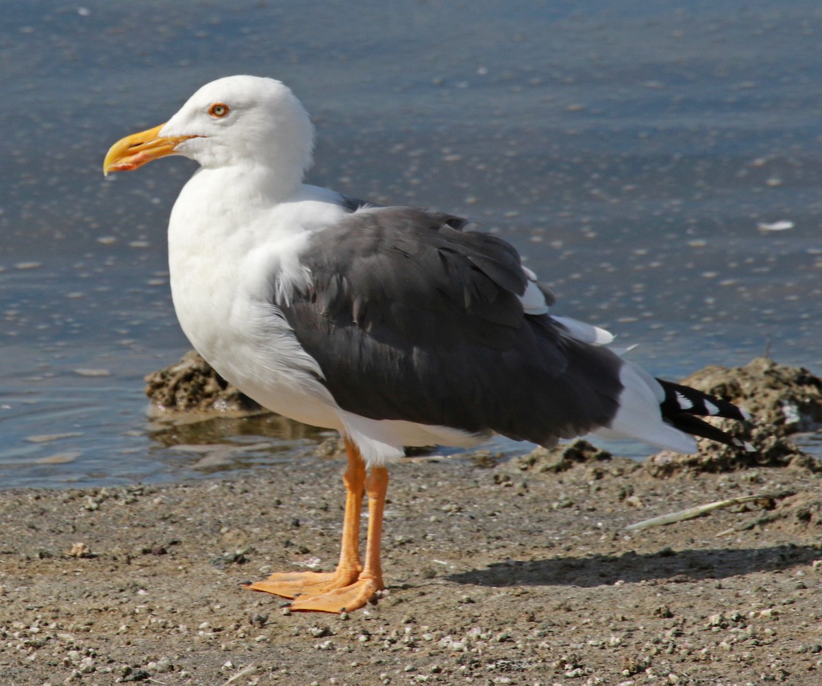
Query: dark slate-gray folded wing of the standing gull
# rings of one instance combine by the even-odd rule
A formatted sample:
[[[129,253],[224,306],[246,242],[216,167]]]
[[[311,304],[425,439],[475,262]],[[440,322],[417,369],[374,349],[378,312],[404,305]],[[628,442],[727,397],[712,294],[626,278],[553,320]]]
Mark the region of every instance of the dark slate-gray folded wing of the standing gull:
[[[336,402],[541,444],[607,424],[618,358],[524,315],[520,256],[465,223],[389,207],[312,236],[312,288],[282,310]]]

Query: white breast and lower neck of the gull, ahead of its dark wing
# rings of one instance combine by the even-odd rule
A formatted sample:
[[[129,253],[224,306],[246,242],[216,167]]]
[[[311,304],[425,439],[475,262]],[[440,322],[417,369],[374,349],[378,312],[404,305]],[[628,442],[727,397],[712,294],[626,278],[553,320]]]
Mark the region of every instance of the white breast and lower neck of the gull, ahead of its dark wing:
[[[235,193],[227,199],[209,192],[215,183],[237,187],[215,178],[219,172],[225,170],[192,177],[169,223],[169,273],[182,330],[219,375],[264,407],[342,428],[316,361],[275,303],[288,302],[293,287],[310,279],[299,262],[308,233],[344,210],[329,202],[329,191],[312,186],[273,206],[234,201]]]

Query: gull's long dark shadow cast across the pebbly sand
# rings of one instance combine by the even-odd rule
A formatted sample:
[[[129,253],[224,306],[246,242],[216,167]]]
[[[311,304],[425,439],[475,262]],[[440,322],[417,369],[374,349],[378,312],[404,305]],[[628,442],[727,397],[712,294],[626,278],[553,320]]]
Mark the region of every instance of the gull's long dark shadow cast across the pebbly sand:
[[[810,564],[822,555],[815,546],[671,550],[655,553],[589,555],[581,558],[508,559],[487,569],[450,574],[450,581],[475,586],[609,586],[615,582],[695,582],[752,572],[777,572]]]

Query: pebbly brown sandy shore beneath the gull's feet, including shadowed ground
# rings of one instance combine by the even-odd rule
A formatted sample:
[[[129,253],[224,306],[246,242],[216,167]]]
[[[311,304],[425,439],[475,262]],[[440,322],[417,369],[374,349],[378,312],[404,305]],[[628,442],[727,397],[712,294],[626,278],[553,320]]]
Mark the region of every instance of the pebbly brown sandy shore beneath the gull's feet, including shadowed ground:
[[[585,446],[504,463],[483,452],[408,458],[391,469],[388,589],[339,616],[291,614],[242,587],[333,568],[344,464],[334,458],[215,481],[7,491],[0,674],[4,684],[818,684],[818,463],[749,459],[728,471],[704,456],[640,464]],[[746,495],[761,497],[626,530]]]

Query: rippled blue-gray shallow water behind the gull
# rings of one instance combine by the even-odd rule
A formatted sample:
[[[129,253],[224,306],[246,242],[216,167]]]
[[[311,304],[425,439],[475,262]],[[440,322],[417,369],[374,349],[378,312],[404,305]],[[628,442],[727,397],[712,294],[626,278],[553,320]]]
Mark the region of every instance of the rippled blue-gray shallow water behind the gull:
[[[822,371],[818,2],[349,7],[4,16],[2,486],[254,468],[319,437],[259,419],[169,430],[145,413],[142,376],[188,348],[164,226],[194,167],[100,166],[233,73],[278,77],[312,112],[312,182],[499,232],[557,311],[638,344],[631,358],[658,375],[766,351]]]

